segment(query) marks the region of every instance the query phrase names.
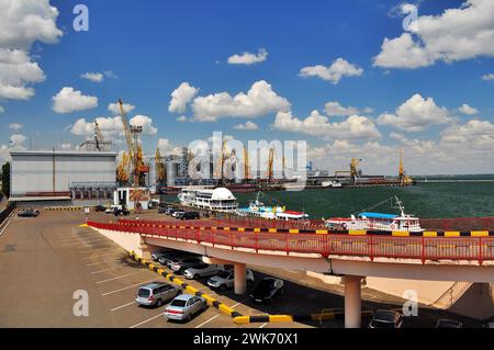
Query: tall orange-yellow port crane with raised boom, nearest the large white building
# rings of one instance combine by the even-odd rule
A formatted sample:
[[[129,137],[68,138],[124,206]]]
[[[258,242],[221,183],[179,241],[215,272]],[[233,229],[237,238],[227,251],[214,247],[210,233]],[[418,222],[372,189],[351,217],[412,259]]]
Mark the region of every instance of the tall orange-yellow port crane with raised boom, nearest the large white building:
[[[149,172],[149,167],[144,163],[143,149],[138,140],[143,127],[128,124],[127,115],[121,99],[119,99],[119,106],[128,148],[128,158],[132,163],[132,184],[134,187],[145,185],[145,177],[146,173]]]

